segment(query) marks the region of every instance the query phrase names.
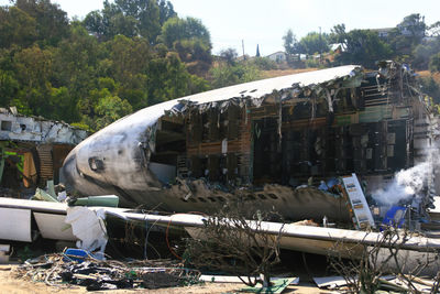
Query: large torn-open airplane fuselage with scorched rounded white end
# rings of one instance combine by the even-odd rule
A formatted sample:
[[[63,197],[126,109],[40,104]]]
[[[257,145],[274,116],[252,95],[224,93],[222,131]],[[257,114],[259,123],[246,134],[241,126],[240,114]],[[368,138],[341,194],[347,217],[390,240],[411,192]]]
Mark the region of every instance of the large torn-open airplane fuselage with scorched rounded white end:
[[[142,109],[77,145],[64,174],[129,206],[209,211],[243,197],[290,219],[346,220],[345,200],[312,186],[356,173],[380,188],[424,160],[428,119],[407,67],[340,66]]]

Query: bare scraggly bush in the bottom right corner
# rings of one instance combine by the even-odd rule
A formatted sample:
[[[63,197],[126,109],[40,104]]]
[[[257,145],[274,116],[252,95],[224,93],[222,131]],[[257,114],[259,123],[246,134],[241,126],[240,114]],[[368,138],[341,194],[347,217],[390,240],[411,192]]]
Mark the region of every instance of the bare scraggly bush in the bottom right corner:
[[[364,240],[367,240],[367,235],[369,232]],[[405,293],[420,293],[413,282],[427,266],[437,261],[437,254],[425,253],[417,262],[410,262],[410,255],[404,254],[403,251],[413,237],[414,233],[407,230],[386,227],[374,238],[374,244],[363,241],[339,242],[330,252],[330,266],[346,281],[350,293],[376,293],[383,286],[389,290],[393,284],[382,277],[385,274],[395,275],[403,285],[392,288],[397,287],[399,292],[406,290]],[[437,281],[431,291],[430,293],[438,293]]]

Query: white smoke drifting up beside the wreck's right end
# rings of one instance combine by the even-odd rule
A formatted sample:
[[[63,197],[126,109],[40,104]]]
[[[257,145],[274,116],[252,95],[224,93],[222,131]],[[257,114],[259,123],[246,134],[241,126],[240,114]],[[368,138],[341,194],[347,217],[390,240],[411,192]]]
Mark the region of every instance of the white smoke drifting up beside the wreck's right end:
[[[424,189],[424,183],[430,174],[431,165],[428,162],[420,163],[408,170],[398,172],[393,182],[384,189],[375,190],[372,197],[382,206],[391,207],[400,200],[409,200],[419,195]]]

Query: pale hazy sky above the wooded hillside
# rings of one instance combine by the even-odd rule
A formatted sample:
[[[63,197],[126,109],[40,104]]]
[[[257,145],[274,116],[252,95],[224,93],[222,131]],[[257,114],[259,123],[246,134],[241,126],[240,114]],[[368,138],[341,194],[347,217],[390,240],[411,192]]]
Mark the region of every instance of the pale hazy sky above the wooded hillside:
[[[103,0],[52,0],[72,19],[82,19],[102,8]],[[425,15],[426,23],[440,21],[440,0],[170,0],[179,17],[200,19],[211,33],[212,52],[233,47],[255,55],[283,50],[283,35],[292,29],[297,39],[308,32],[330,32],[334,24],[348,30],[393,28],[411,13]],[[0,0],[9,4],[9,0]]]

